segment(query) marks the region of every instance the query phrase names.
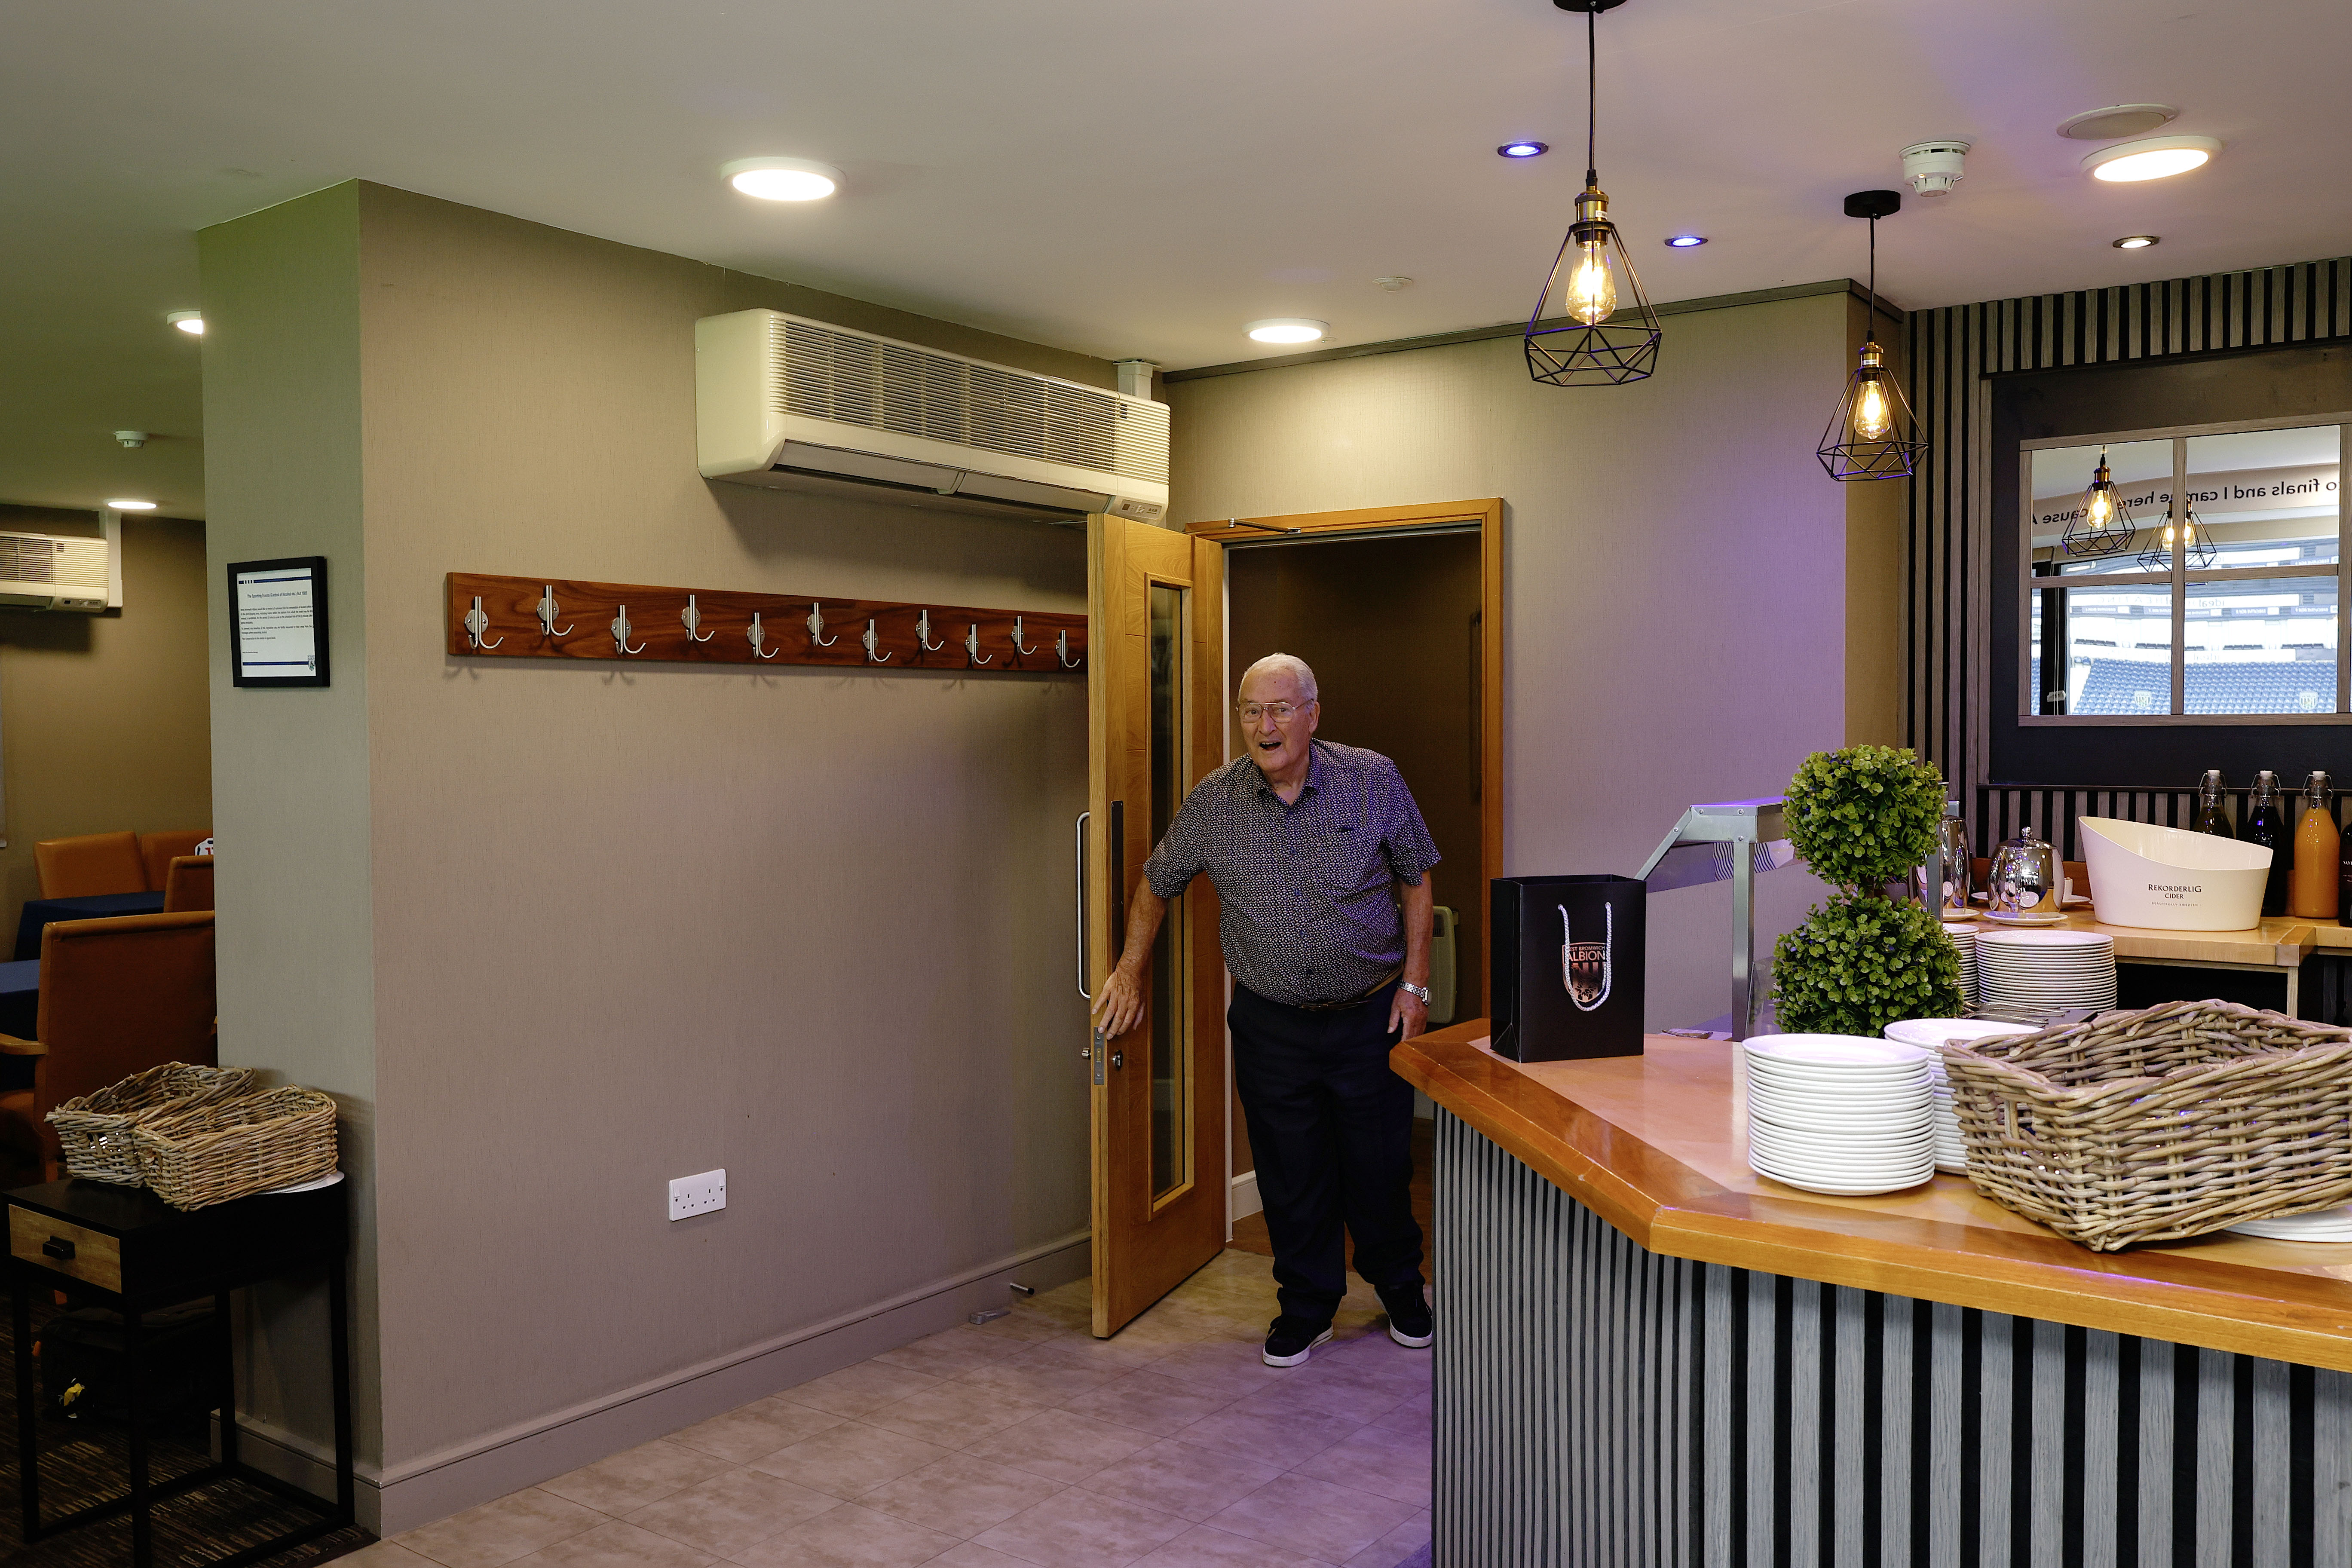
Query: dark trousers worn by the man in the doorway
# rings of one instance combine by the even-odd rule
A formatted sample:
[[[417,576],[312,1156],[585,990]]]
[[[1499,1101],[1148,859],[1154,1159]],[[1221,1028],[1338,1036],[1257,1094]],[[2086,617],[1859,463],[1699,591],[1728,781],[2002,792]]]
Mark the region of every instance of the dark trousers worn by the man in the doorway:
[[[1388,1070],[1395,990],[1310,1011],[1232,987],[1232,1084],[1258,1161],[1284,1316],[1327,1324],[1338,1312],[1348,1293],[1341,1225],[1369,1284],[1421,1284],[1414,1086]]]

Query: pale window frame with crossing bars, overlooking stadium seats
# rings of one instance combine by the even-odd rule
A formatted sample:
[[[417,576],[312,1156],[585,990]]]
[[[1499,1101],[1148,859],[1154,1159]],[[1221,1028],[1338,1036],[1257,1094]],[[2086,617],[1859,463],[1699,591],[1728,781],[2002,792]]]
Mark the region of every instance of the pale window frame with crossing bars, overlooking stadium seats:
[[[2314,430],[2336,425],[2336,564],[2333,567],[2211,567],[2190,571],[2187,550],[2173,550],[2171,571],[2096,571],[2077,578],[2034,576],[2034,454],[2063,447],[2124,447],[2129,442],[2173,444],[2173,496],[2187,494],[2187,444],[2199,435],[2241,435],[2246,430]],[[2345,484],[2352,451],[2352,411],[2291,414],[2272,418],[2230,418],[2201,425],[2159,425],[2152,430],[2107,430],[2093,435],[2037,435],[2018,442],[2018,724],[2023,729],[2194,729],[2244,724],[2352,724],[2352,538],[2347,538]],[[2187,510],[2183,505],[2183,510]],[[2331,578],[2336,583],[2336,710],[2333,712],[2183,712],[2187,698],[2187,590],[2190,583]],[[2171,614],[2171,712],[2034,712],[2034,592],[2070,581],[2082,588],[2157,588],[2173,599]]]

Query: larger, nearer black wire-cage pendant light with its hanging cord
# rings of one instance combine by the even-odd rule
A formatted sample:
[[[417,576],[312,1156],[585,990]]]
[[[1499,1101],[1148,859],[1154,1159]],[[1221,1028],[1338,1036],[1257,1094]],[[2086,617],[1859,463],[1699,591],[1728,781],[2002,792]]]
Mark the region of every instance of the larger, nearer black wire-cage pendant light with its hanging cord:
[[[1526,374],[1550,386],[1621,386],[1658,369],[1658,339],[1665,336],[1658,331],[1658,313],[1642,294],[1642,280],[1632,273],[1625,240],[1609,221],[1609,195],[1592,165],[1599,120],[1597,24],[1602,12],[1625,0],[1552,0],[1552,5],[1585,14],[1585,188],[1576,197],[1569,237],[1559,242],[1543,292],[1536,294],[1536,310],[1526,317]],[[1552,301],[1552,287],[1562,282],[1562,268],[1569,268],[1569,275],[1559,303],[1566,306],[1571,324],[1545,327],[1543,308]],[[1628,308],[1618,310],[1621,303]]]

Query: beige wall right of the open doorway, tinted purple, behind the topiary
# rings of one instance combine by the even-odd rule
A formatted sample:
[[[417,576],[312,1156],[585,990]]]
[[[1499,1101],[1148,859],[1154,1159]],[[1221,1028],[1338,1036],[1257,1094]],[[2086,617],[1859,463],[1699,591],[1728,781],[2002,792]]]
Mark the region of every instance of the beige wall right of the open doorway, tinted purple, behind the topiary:
[[[1630,875],[1849,733],[1849,498],[1813,456],[1846,336],[1816,294],[1672,315],[1621,388],[1536,386],[1515,339],[1174,381],[1174,515],[1503,496],[1503,867]],[[1769,952],[1820,889],[1757,886]],[[1651,900],[1653,1027],[1729,1011],[1729,910]]]

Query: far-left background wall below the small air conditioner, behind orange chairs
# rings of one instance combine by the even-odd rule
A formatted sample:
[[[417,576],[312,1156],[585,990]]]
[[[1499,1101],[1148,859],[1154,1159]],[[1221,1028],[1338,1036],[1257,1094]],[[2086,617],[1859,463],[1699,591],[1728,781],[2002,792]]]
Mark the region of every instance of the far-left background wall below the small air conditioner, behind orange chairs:
[[[0,517],[0,529],[96,534],[96,515]],[[205,524],[122,520],[122,614],[0,611],[0,940],[40,893],[33,842],[212,823],[205,679]]]

